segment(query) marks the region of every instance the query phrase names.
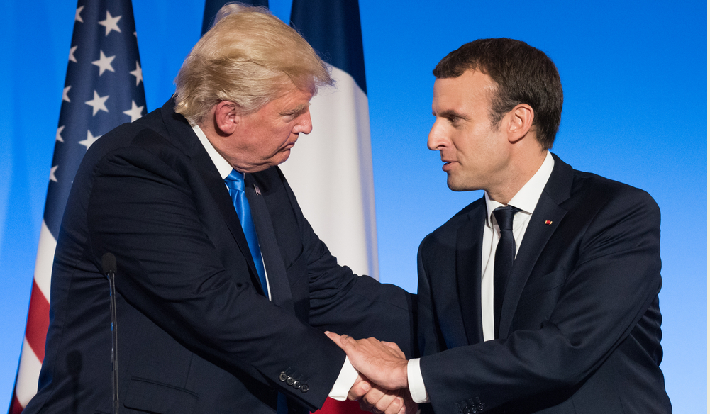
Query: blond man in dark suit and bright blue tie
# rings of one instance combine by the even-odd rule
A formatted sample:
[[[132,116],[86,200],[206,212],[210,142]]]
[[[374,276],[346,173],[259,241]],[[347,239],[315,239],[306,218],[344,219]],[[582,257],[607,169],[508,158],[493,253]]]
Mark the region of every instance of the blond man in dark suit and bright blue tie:
[[[108,253],[121,413],[297,413],[372,390],[323,332],[408,350],[410,295],[339,266],[277,167],[312,129],[324,62],[268,11],[229,5],[175,82],[82,161],[25,413],[112,411]]]

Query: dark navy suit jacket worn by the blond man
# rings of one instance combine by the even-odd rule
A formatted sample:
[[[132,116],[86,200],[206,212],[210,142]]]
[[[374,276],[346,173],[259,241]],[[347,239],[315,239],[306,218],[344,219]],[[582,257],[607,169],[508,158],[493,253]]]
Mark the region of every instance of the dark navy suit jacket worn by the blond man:
[[[338,266],[278,168],[245,183],[273,302],[245,259],[224,181],[172,101],[89,148],[58,238],[40,389],[25,413],[111,412],[107,252],[118,264],[122,413],[274,413],[277,391],[296,412],[314,410],[345,357],[324,329],[410,348],[408,293]]]

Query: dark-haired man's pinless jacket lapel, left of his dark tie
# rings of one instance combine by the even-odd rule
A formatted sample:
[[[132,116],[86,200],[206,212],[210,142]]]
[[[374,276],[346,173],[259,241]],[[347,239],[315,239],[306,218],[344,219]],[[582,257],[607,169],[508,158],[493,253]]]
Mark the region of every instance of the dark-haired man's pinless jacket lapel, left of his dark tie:
[[[486,204],[469,212],[469,221],[459,228],[456,240],[456,278],[461,318],[469,344],[484,341],[481,322],[481,240]]]

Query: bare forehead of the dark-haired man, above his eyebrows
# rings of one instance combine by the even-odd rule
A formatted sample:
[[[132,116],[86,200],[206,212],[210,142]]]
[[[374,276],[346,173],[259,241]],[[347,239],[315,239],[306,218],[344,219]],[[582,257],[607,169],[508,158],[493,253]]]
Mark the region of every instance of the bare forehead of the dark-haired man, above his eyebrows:
[[[488,107],[496,82],[478,70],[466,70],[459,77],[440,77],[434,81],[435,111]]]

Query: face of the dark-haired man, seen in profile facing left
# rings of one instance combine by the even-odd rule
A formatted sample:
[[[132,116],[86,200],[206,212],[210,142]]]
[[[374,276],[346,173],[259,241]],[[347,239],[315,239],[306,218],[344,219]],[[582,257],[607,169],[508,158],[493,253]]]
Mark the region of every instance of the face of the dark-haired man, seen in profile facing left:
[[[434,82],[432,113],[436,116],[427,146],[439,151],[454,191],[496,190],[506,185],[510,153],[503,118],[491,125],[491,97],[496,84],[475,70]]]

